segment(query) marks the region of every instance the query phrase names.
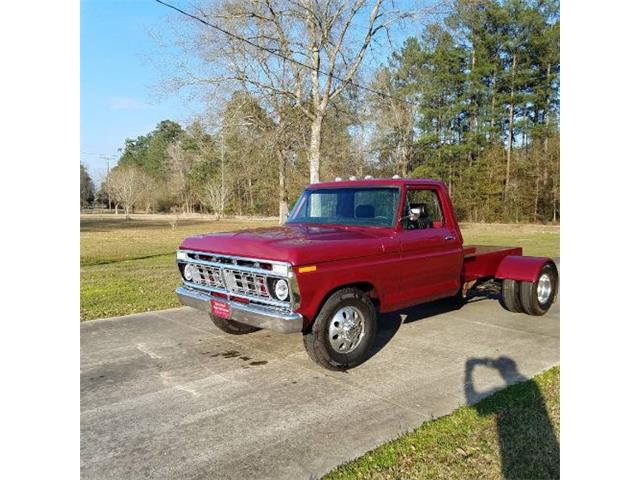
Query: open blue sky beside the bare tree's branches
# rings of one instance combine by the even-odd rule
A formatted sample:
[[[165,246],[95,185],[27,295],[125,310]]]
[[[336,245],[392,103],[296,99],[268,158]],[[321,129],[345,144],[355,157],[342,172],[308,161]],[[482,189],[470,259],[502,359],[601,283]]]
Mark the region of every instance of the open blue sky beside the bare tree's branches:
[[[174,3],[191,10],[189,2]],[[399,4],[411,8],[412,1]],[[94,179],[106,170],[105,155],[111,166],[117,162],[125,138],[144,135],[164,119],[185,124],[203,110],[185,97],[157,95],[164,77],[154,61],[163,51],[151,33],[166,34],[177,15],[153,0],[81,0],[80,160]],[[411,33],[418,30],[404,30],[394,42],[399,46]],[[379,64],[389,52],[382,47],[370,61]]]

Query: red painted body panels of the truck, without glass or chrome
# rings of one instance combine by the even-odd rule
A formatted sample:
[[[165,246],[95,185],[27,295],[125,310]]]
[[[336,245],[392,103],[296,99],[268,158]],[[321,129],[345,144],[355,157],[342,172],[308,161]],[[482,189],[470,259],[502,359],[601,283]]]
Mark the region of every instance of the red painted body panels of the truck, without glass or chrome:
[[[462,233],[444,183],[427,179],[379,179],[326,182],[309,189],[398,186],[397,223],[392,228],[345,225],[287,225],[239,232],[197,235],[180,248],[265,260],[294,267],[307,323],[326,297],[352,284],[365,284],[381,312],[455,295],[461,284],[483,278],[535,279],[546,258],[522,257],[520,247],[463,247]],[[400,223],[406,191],[431,189],[440,199],[444,221],[424,230],[404,230]],[[296,269],[296,272],[298,269]]]

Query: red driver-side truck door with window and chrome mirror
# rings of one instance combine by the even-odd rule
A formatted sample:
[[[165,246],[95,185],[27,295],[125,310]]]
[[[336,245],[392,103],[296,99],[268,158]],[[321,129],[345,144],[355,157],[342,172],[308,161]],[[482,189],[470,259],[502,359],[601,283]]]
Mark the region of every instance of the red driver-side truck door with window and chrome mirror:
[[[460,288],[462,239],[444,195],[443,188],[407,186],[399,232],[406,305],[453,296]]]

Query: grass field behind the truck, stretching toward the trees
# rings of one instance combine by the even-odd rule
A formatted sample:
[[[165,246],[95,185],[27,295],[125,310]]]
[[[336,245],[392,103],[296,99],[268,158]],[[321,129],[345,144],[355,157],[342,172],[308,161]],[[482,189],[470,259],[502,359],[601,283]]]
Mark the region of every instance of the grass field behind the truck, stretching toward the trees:
[[[275,220],[202,220],[175,216],[80,216],[80,319],[179,306],[175,251],[196,233],[276,225]],[[522,245],[527,255],[559,256],[560,229],[463,224],[465,243]]]

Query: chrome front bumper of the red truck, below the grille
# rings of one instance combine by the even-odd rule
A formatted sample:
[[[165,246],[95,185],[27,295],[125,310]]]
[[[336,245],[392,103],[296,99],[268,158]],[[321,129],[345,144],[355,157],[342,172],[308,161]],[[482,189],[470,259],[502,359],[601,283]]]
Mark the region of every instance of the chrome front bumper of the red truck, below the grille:
[[[280,333],[302,331],[302,315],[295,312],[282,312],[259,305],[234,302],[220,297],[212,297],[206,292],[193,288],[178,287],[176,294],[180,303],[203,312],[211,313],[211,300],[228,303],[231,319],[257,328],[266,328]]]

